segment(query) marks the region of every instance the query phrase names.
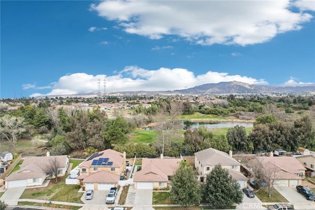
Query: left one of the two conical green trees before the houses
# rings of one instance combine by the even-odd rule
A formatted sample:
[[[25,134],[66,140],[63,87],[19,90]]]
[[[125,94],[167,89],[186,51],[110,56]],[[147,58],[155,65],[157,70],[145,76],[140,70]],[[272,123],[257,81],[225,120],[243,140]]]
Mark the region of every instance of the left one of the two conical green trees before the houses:
[[[171,178],[171,199],[181,206],[199,204],[201,201],[201,188],[191,166],[186,161],[180,166]]]

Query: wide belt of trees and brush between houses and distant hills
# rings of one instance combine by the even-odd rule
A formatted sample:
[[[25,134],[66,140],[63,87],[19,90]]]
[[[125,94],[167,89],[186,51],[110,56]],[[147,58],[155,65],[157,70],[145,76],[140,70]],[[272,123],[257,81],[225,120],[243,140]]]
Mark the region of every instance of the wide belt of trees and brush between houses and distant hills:
[[[93,153],[114,148],[126,151],[129,157],[158,156],[160,153],[176,156],[193,154],[209,147],[221,151],[233,149],[235,152],[259,152],[276,148],[292,151],[298,146],[315,148],[312,125],[314,96],[239,98],[230,95],[221,97],[221,101],[216,104],[207,105],[163,98],[151,103],[149,108],[139,105],[128,118],[116,110],[113,119],[108,119],[98,107],[91,111],[52,107],[48,98],[39,102],[37,107],[30,102],[27,100],[27,105],[11,111],[8,111],[8,105],[0,104],[0,138],[9,140],[14,146],[21,137],[49,134],[47,146],[52,154],[69,154],[79,149]],[[286,121],[283,114],[291,116],[292,110],[297,114],[296,119]],[[310,114],[305,115],[303,110]],[[249,135],[244,127],[239,126],[230,128],[226,136],[213,135],[199,128],[186,130],[184,140],[179,140],[183,138],[176,132],[180,127],[179,116],[196,111],[219,116],[236,116],[240,111],[247,111],[258,117]],[[130,134],[149,122],[155,122],[153,129],[158,135],[157,140],[150,145],[130,143]]]

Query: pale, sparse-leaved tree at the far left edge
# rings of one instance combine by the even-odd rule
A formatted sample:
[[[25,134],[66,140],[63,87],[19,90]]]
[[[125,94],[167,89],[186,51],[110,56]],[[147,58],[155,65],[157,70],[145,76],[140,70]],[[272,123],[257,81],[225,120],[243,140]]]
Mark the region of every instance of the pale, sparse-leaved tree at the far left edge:
[[[9,116],[8,114],[0,118],[0,133],[15,147],[19,136],[26,131],[23,117]]]

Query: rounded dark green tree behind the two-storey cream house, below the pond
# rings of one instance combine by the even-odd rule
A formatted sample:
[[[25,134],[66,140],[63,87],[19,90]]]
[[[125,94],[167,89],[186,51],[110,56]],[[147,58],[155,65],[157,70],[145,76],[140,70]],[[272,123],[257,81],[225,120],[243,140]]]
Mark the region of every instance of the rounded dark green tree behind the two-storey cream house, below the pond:
[[[228,140],[228,143],[233,147],[233,150],[248,150],[248,138],[245,127],[237,125],[234,128],[229,128],[226,133],[226,139]]]

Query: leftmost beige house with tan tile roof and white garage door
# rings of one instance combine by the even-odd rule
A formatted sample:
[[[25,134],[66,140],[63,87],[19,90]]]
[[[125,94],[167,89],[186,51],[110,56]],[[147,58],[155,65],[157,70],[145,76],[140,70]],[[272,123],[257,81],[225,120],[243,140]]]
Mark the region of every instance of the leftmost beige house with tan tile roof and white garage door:
[[[49,152],[47,155],[43,157],[24,158],[20,169],[4,179],[5,188],[42,185],[45,178],[50,176],[49,164],[52,158],[56,158],[62,166],[59,168],[57,176],[65,175],[69,165],[68,157],[66,155],[49,156]]]

